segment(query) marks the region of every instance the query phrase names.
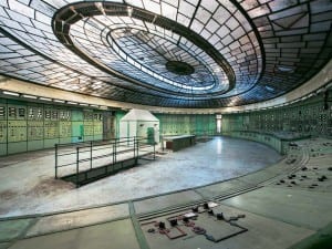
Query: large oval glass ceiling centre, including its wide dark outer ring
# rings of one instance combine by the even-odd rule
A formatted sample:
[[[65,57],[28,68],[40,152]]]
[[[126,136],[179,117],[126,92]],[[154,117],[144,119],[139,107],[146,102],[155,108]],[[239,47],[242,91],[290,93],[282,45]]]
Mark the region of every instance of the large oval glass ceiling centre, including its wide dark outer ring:
[[[236,79],[231,66],[209,42],[170,19],[138,8],[131,8],[131,17],[128,17],[128,6],[126,4],[84,2],[68,6],[54,15],[53,30],[62,43],[89,63],[104,72],[147,89],[154,89],[173,95],[197,97],[199,100],[207,97],[206,94],[209,94],[209,96],[220,96],[235,87]],[[114,22],[113,19],[118,19],[118,17],[121,17],[122,23]],[[143,24],[139,27],[137,23]],[[166,62],[162,63],[162,69],[151,71],[143,64],[141,65],[137,60],[133,60],[133,54],[123,49],[125,45],[116,45],[114,48],[114,39],[110,42],[110,33],[113,34],[114,30],[139,30],[143,29],[142,27],[145,27],[145,31],[148,34],[155,33],[155,35],[160,35],[162,33],[164,34],[164,40],[169,40],[170,43],[176,44],[174,51],[165,49],[166,53],[170,51],[176,54],[180,53],[179,51],[185,51],[186,53],[181,52],[184,58],[181,59],[176,55],[167,56],[166,53],[162,54],[158,48],[151,49],[148,52],[154,52],[154,59],[158,53],[158,59],[164,58],[166,60]],[[92,28],[94,29],[93,32],[90,32],[87,35],[86,30],[92,31]],[[166,35],[166,32],[170,34]],[[102,41],[97,41],[100,38],[102,38]],[[137,40],[137,38],[136,35],[135,39]],[[106,41],[108,44],[111,43],[111,48],[105,46]],[[92,42],[94,42],[95,49],[89,49],[89,45],[86,45]],[[144,41],[142,40],[142,42]],[[139,45],[146,46],[147,44]],[[114,54],[122,54],[122,61],[118,61],[120,56],[115,59]],[[190,59],[195,59],[191,64],[186,61],[188,58],[189,61]],[[113,61],[116,61],[116,63],[113,63]],[[176,70],[172,72],[166,66],[167,61],[178,61],[183,65],[187,64],[187,70],[190,69],[193,73],[197,72],[197,75],[193,73],[179,75],[179,73],[175,73]],[[196,70],[194,64],[201,64],[203,62],[205,65],[198,66],[200,69]],[[128,66],[128,64],[134,66]],[[144,61],[144,64],[147,64],[147,62]],[[154,63],[154,65],[149,68],[159,66],[158,63]],[[136,71],[133,69],[135,66]],[[120,68],[125,70],[120,70]],[[135,79],[136,75],[139,75],[138,71],[146,72],[145,79],[142,76]],[[174,75],[169,75],[169,72]]]

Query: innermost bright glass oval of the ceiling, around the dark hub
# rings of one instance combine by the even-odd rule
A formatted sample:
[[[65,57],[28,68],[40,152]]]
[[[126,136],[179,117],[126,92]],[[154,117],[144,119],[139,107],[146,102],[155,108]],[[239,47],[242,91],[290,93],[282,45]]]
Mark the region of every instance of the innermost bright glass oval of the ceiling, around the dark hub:
[[[107,19],[110,20],[110,18]],[[214,87],[216,91],[218,90],[216,87],[218,82],[219,91],[222,91],[224,85],[225,89],[228,86],[228,80],[226,79],[225,73],[214,73],[211,65],[207,65],[205,61],[200,59],[201,54],[199,55],[197,51],[195,53],[189,52],[185,48],[177,45],[172,37],[163,35],[160,31],[148,31],[129,24],[125,28],[112,29],[111,25],[107,28],[111,29],[111,31],[106,34],[108,44],[105,45],[110,45],[118,58],[122,58],[126,63],[133,65],[139,72],[143,71],[158,81],[166,82],[167,85],[164,87],[167,90],[169,90],[169,86],[175,86],[195,92],[211,90]],[[104,40],[103,33],[101,34],[102,40]],[[106,59],[104,60],[105,64],[111,69],[118,68],[118,64],[122,62],[110,62],[107,58],[112,56],[112,54],[105,55],[105,52],[106,50],[102,48],[100,53],[96,51],[96,53],[98,53],[97,55],[94,53],[94,58]],[[204,53],[204,51],[199,50],[199,53]],[[186,62],[184,62],[184,60],[186,60]],[[167,63],[169,61],[179,62],[177,64],[178,66],[187,64],[187,68],[193,68],[196,73],[193,74],[193,72],[185,75],[175,73],[176,70],[175,72],[170,72],[167,69]],[[211,64],[217,68],[216,63]],[[128,70],[123,71],[120,69],[118,71],[123,74],[129,74]],[[134,71],[132,77],[135,77],[139,72]],[[159,83],[159,85],[163,85],[163,83]]]

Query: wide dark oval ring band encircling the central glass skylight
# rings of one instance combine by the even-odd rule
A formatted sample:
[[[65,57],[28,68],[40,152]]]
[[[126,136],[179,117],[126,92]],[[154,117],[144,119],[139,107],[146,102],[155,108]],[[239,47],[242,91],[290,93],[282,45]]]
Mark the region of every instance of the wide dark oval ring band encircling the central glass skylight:
[[[89,18],[89,17],[95,17],[95,15],[123,15],[128,17],[127,4],[121,4],[121,3],[113,3],[113,2],[103,2],[103,10],[104,13],[97,8],[97,6],[94,2],[80,2],[66,6],[62,9],[60,9],[53,17],[53,31],[54,34],[58,37],[58,39],[66,45],[70,50],[72,50],[75,54],[83,58],[83,60],[87,61],[89,63],[95,65],[96,68],[106,71],[107,73],[112,73],[113,75],[116,75],[117,77],[122,80],[129,81],[132,83],[149,87],[155,91],[160,91],[159,87],[155,87],[153,85],[142,84],[142,82],[131,79],[126,75],[123,75],[121,73],[117,73],[115,71],[110,71],[110,69],[105,69],[100,63],[96,63],[95,60],[91,60],[91,58],[86,56],[82,53],[82,51],[77,50],[75,48],[71,37],[70,37],[70,29],[71,25],[75,22]],[[156,25],[159,25],[166,30],[172,30],[174,33],[178,33],[179,35],[184,37],[188,41],[193,42],[195,45],[200,48],[203,51],[205,51],[225,72],[227,80],[228,80],[228,87],[222,91],[211,92],[209,94],[212,94],[215,96],[220,96],[221,94],[225,94],[229,91],[231,91],[235,87],[236,84],[236,76],[232,68],[229,65],[229,63],[224,59],[224,56],[220,54],[218,50],[216,50],[208,41],[206,41],[204,38],[191,31],[190,29],[170,20],[162,15],[157,15],[155,13],[148,12],[146,10],[131,7],[132,10],[132,17],[142,21],[151,22]],[[160,91],[167,93],[166,90]],[[188,93],[180,93],[177,94],[174,91],[168,91],[174,95],[179,96],[190,96],[190,97],[199,97],[201,94],[196,94],[193,91]]]

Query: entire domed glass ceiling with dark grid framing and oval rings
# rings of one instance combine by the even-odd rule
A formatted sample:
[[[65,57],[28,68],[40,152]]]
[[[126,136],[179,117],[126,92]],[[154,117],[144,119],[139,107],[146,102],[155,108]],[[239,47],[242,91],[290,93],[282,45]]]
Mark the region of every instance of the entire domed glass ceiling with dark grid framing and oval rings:
[[[0,0],[0,73],[138,104],[242,105],[318,73],[331,22],[330,0]]]

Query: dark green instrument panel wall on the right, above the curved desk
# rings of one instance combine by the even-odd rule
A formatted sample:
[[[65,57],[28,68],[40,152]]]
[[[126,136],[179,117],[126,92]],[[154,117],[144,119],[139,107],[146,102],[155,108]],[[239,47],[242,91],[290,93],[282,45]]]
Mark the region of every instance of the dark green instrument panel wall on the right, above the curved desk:
[[[222,131],[286,132],[332,137],[332,93],[330,91],[330,94],[288,107],[226,114],[222,116]]]

